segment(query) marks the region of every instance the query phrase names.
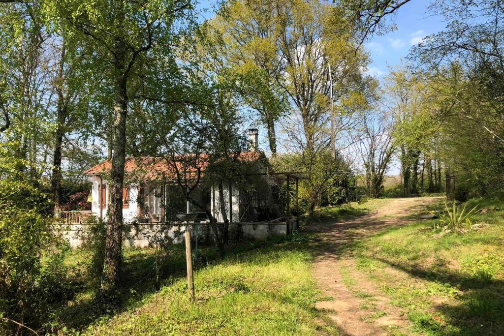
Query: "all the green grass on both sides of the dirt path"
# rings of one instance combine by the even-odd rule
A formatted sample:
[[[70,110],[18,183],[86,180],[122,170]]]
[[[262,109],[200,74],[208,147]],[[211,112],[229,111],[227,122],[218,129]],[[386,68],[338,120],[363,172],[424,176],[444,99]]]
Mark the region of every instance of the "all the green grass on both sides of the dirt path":
[[[348,219],[388,201],[320,209],[318,215],[323,220]],[[471,200],[467,207],[476,204],[504,209],[504,202],[495,199]],[[441,202],[429,210],[442,207]],[[400,307],[412,325],[408,333],[499,334],[504,329],[504,212],[479,214],[473,222],[488,225],[464,235],[438,236],[432,221],[422,222],[391,228],[349,246],[355,262],[340,271],[344,285],[366,312],[363,321],[373,323],[386,314],[377,305],[376,293],[359,288],[365,278]],[[325,312],[314,308],[316,301],[328,299],[311,275],[312,259],[322,244],[319,238],[295,234],[245,242],[230,247],[225,259],[212,248],[201,248],[196,303],[187,298],[183,246],[170,251],[158,283],[153,251],[127,249],[121,303],[102,314],[94,307],[93,289],[83,286],[58,312],[54,330],[90,335],[338,334]],[[88,258],[76,250],[67,262],[85,273],[82,264]]]

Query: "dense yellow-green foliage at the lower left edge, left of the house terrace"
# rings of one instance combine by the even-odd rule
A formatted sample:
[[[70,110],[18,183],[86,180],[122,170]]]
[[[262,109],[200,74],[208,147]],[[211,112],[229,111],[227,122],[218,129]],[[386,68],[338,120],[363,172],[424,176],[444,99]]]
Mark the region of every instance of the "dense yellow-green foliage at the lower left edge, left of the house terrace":
[[[72,296],[64,258],[68,243],[43,213],[47,196],[20,170],[15,144],[0,145],[0,316],[38,328]],[[0,329],[15,330],[6,322]]]

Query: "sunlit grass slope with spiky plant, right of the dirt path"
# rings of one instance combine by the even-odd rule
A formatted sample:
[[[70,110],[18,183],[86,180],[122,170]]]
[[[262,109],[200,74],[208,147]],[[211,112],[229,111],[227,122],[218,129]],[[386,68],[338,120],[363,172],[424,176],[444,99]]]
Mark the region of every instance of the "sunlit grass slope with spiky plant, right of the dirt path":
[[[476,204],[504,209],[497,199],[473,199],[467,207]],[[355,270],[405,309],[411,332],[501,334],[504,212],[478,214],[473,223],[487,226],[441,237],[433,221],[391,228],[353,246]]]

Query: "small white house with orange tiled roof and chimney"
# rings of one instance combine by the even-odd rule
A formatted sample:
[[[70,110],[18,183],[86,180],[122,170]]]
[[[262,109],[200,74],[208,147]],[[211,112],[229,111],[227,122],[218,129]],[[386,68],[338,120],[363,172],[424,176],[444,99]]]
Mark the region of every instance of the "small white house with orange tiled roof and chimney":
[[[249,151],[237,154],[237,159],[254,166],[259,174],[253,188],[243,188],[237,183],[223,183],[223,198],[226,217],[234,226],[239,225],[243,234],[255,238],[265,238],[270,234],[286,234],[289,228],[286,223],[272,223],[271,220],[281,218],[283,211],[278,205],[278,184],[268,174],[268,159],[263,152],[258,151],[258,130],[249,130]],[[202,156],[198,164],[201,174],[205,174],[207,163]],[[124,188],[122,189],[122,216],[125,223],[148,224],[162,226],[176,221],[177,213],[197,212],[202,223],[206,222],[205,212],[186,200],[181,192],[180,184],[175,181],[175,173],[196,174],[181,167],[182,164],[166,161],[162,157],[127,158],[124,166]],[[107,218],[109,209],[109,185],[107,175],[111,163],[105,161],[84,172],[92,184],[91,212],[101,219]],[[176,169],[175,169],[176,168]],[[207,183],[208,186],[208,183]],[[218,222],[223,222],[220,207],[220,194],[217,184],[207,188],[197,187],[191,193],[200,205],[206,207]],[[231,214],[231,217],[230,217]],[[241,224],[246,223],[245,226]],[[289,222],[289,226],[292,223]],[[207,226],[208,227],[208,226]],[[180,226],[174,225],[168,234],[176,239]],[[177,231],[178,230],[178,231]],[[292,230],[292,227],[290,228]],[[148,242],[142,234],[136,234],[136,246],[147,246]]]

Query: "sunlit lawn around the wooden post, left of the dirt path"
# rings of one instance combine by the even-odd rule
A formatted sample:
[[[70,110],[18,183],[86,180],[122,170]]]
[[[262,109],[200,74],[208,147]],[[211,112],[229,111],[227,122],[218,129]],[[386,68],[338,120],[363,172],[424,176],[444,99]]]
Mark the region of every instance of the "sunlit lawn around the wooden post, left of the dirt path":
[[[203,249],[207,262],[196,270],[196,303],[188,299],[180,272],[185,270],[183,254],[178,253],[183,246],[164,264],[159,290],[153,281],[152,250],[127,250],[121,305],[95,315],[93,293],[83,291],[60,312],[59,328],[90,335],[338,334],[314,308],[322,293],[311,277],[311,240],[295,234],[243,244],[221,260],[211,255],[212,249]],[[85,259],[77,250],[69,262]]]

